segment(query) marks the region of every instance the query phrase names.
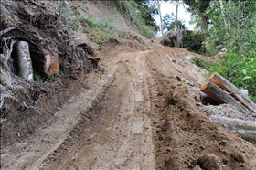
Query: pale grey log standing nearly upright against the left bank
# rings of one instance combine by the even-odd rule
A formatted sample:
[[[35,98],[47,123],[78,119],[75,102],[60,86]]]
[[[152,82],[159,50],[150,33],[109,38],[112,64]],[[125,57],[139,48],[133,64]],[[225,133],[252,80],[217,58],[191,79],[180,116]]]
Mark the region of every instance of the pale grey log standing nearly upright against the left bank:
[[[34,80],[29,46],[26,41],[16,42],[16,56],[18,60],[19,74],[24,80]]]

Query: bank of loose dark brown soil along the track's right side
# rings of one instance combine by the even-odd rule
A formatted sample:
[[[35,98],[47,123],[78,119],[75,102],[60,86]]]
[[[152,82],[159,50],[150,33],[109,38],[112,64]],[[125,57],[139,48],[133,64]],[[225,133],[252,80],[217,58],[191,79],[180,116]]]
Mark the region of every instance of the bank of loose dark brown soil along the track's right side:
[[[155,67],[155,59],[151,61],[151,67]],[[154,103],[152,117],[157,169],[256,167],[255,147],[199,112],[201,104],[193,99],[194,88],[174,77],[168,79],[170,74],[164,71],[155,70],[153,74],[155,81],[150,93]],[[204,156],[207,154],[212,156]]]

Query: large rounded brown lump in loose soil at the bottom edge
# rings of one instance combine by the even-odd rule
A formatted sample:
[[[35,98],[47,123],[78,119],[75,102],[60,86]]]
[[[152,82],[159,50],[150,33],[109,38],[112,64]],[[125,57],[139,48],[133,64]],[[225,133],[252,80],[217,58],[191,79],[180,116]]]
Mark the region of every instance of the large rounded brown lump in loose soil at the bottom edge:
[[[202,170],[221,170],[219,157],[214,154],[201,154],[197,160]]]

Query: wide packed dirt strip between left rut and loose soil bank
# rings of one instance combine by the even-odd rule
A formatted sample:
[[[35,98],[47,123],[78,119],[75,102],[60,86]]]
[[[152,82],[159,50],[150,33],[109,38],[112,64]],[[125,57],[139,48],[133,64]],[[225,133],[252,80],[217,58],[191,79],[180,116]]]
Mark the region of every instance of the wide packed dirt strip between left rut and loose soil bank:
[[[57,143],[45,154],[37,155],[34,164],[23,165],[23,169],[155,167],[148,116],[150,100],[146,77],[149,75],[144,64],[148,52],[123,53],[113,59],[110,63],[113,67],[107,69],[112,80],[94,95],[97,97],[91,101],[91,107],[81,111],[76,123],[65,130]]]

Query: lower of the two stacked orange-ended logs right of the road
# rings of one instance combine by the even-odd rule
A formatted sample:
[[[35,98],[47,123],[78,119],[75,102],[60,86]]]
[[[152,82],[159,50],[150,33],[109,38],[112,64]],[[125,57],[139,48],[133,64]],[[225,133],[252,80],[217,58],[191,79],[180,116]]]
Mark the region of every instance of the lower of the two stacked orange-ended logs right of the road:
[[[250,112],[239,101],[232,98],[227,91],[220,89],[219,86],[212,82],[204,83],[201,87],[201,91],[206,93],[214,101],[219,102],[219,104],[229,103],[233,105],[239,112]]]

